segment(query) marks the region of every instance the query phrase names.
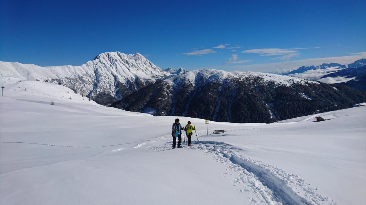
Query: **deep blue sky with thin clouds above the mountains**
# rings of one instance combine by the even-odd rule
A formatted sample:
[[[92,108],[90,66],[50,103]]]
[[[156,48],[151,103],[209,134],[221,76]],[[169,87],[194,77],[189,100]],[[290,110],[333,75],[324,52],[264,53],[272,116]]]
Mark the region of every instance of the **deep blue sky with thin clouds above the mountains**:
[[[120,51],[162,69],[280,72],[366,58],[366,1],[0,2],[0,61],[82,65]]]

